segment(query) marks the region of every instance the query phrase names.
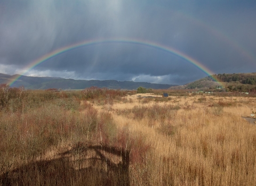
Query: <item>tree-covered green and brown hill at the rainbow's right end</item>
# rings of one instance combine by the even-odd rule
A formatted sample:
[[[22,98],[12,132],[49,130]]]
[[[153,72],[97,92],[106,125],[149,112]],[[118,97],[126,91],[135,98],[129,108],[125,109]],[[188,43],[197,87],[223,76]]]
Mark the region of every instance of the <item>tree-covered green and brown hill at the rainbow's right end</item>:
[[[214,79],[218,79],[220,83]],[[182,86],[170,87],[170,89],[214,90],[220,87],[222,89],[218,89],[218,91],[255,91],[256,73],[214,74]]]

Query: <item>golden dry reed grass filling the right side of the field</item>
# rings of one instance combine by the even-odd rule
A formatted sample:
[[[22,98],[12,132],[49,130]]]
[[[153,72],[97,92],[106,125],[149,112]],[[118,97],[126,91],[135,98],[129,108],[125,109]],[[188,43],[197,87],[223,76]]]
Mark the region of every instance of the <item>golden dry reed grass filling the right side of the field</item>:
[[[146,108],[154,104],[149,102]],[[173,111],[169,105],[179,105],[180,109]],[[145,134],[153,149],[147,157],[149,166],[143,168],[148,172],[147,179],[133,184],[254,185],[256,128],[241,115],[250,115],[255,105],[255,98],[245,97],[172,97],[167,103],[158,103],[170,118],[162,121],[161,110],[154,125],[149,125],[151,118],[145,105],[140,100],[134,102],[133,107],[140,107],[146,113],[141,119],[136,120],[134,113],[114,115],[116,123]],[[131,108],[132,104],[127,107]],[[164,127],[161,122],[172,126],[171,132],[164,132],[168,128],[159,132]],[[132,177],[137,177],[137,173],[132,172]]]

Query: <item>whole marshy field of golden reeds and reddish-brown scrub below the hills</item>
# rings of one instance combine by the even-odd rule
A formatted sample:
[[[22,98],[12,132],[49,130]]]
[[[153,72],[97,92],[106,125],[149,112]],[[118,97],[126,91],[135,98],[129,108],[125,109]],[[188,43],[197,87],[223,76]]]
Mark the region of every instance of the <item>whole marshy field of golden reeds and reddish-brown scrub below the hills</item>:
[[[256,97],[1,88],[0,185],[256,185]]]

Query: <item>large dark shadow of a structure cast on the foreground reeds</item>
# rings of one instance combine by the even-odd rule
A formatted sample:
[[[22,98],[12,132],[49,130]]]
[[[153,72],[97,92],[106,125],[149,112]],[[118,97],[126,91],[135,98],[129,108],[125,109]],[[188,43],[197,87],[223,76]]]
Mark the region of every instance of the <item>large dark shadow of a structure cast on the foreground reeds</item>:
[[[130,185],[129,151],[77,143],[58,158],[5,172],[2,185]]]

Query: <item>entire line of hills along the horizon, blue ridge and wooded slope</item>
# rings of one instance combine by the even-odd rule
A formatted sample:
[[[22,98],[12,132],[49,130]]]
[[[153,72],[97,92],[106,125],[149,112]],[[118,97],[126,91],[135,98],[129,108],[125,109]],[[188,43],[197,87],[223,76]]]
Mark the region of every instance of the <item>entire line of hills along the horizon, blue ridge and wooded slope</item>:
[[[20,77],[20,78],[18,78]],[[15,81],[15,79],[17,79]],[[217,82],[218,79],[221,83]],[[178,86],[174,84],[158,84],[148,82],[117,80],[74,80],[53,77],[28,77],[26,75],[8,75],[0,73],[0,84],[15,81],[11,87],[24,86],[26,89],[84,89],[89,87],[135,90],[138,87],[151,89],[200,89],[218,91],[250,91],[256,90],[256,72],[213,74],[208,77]]]

